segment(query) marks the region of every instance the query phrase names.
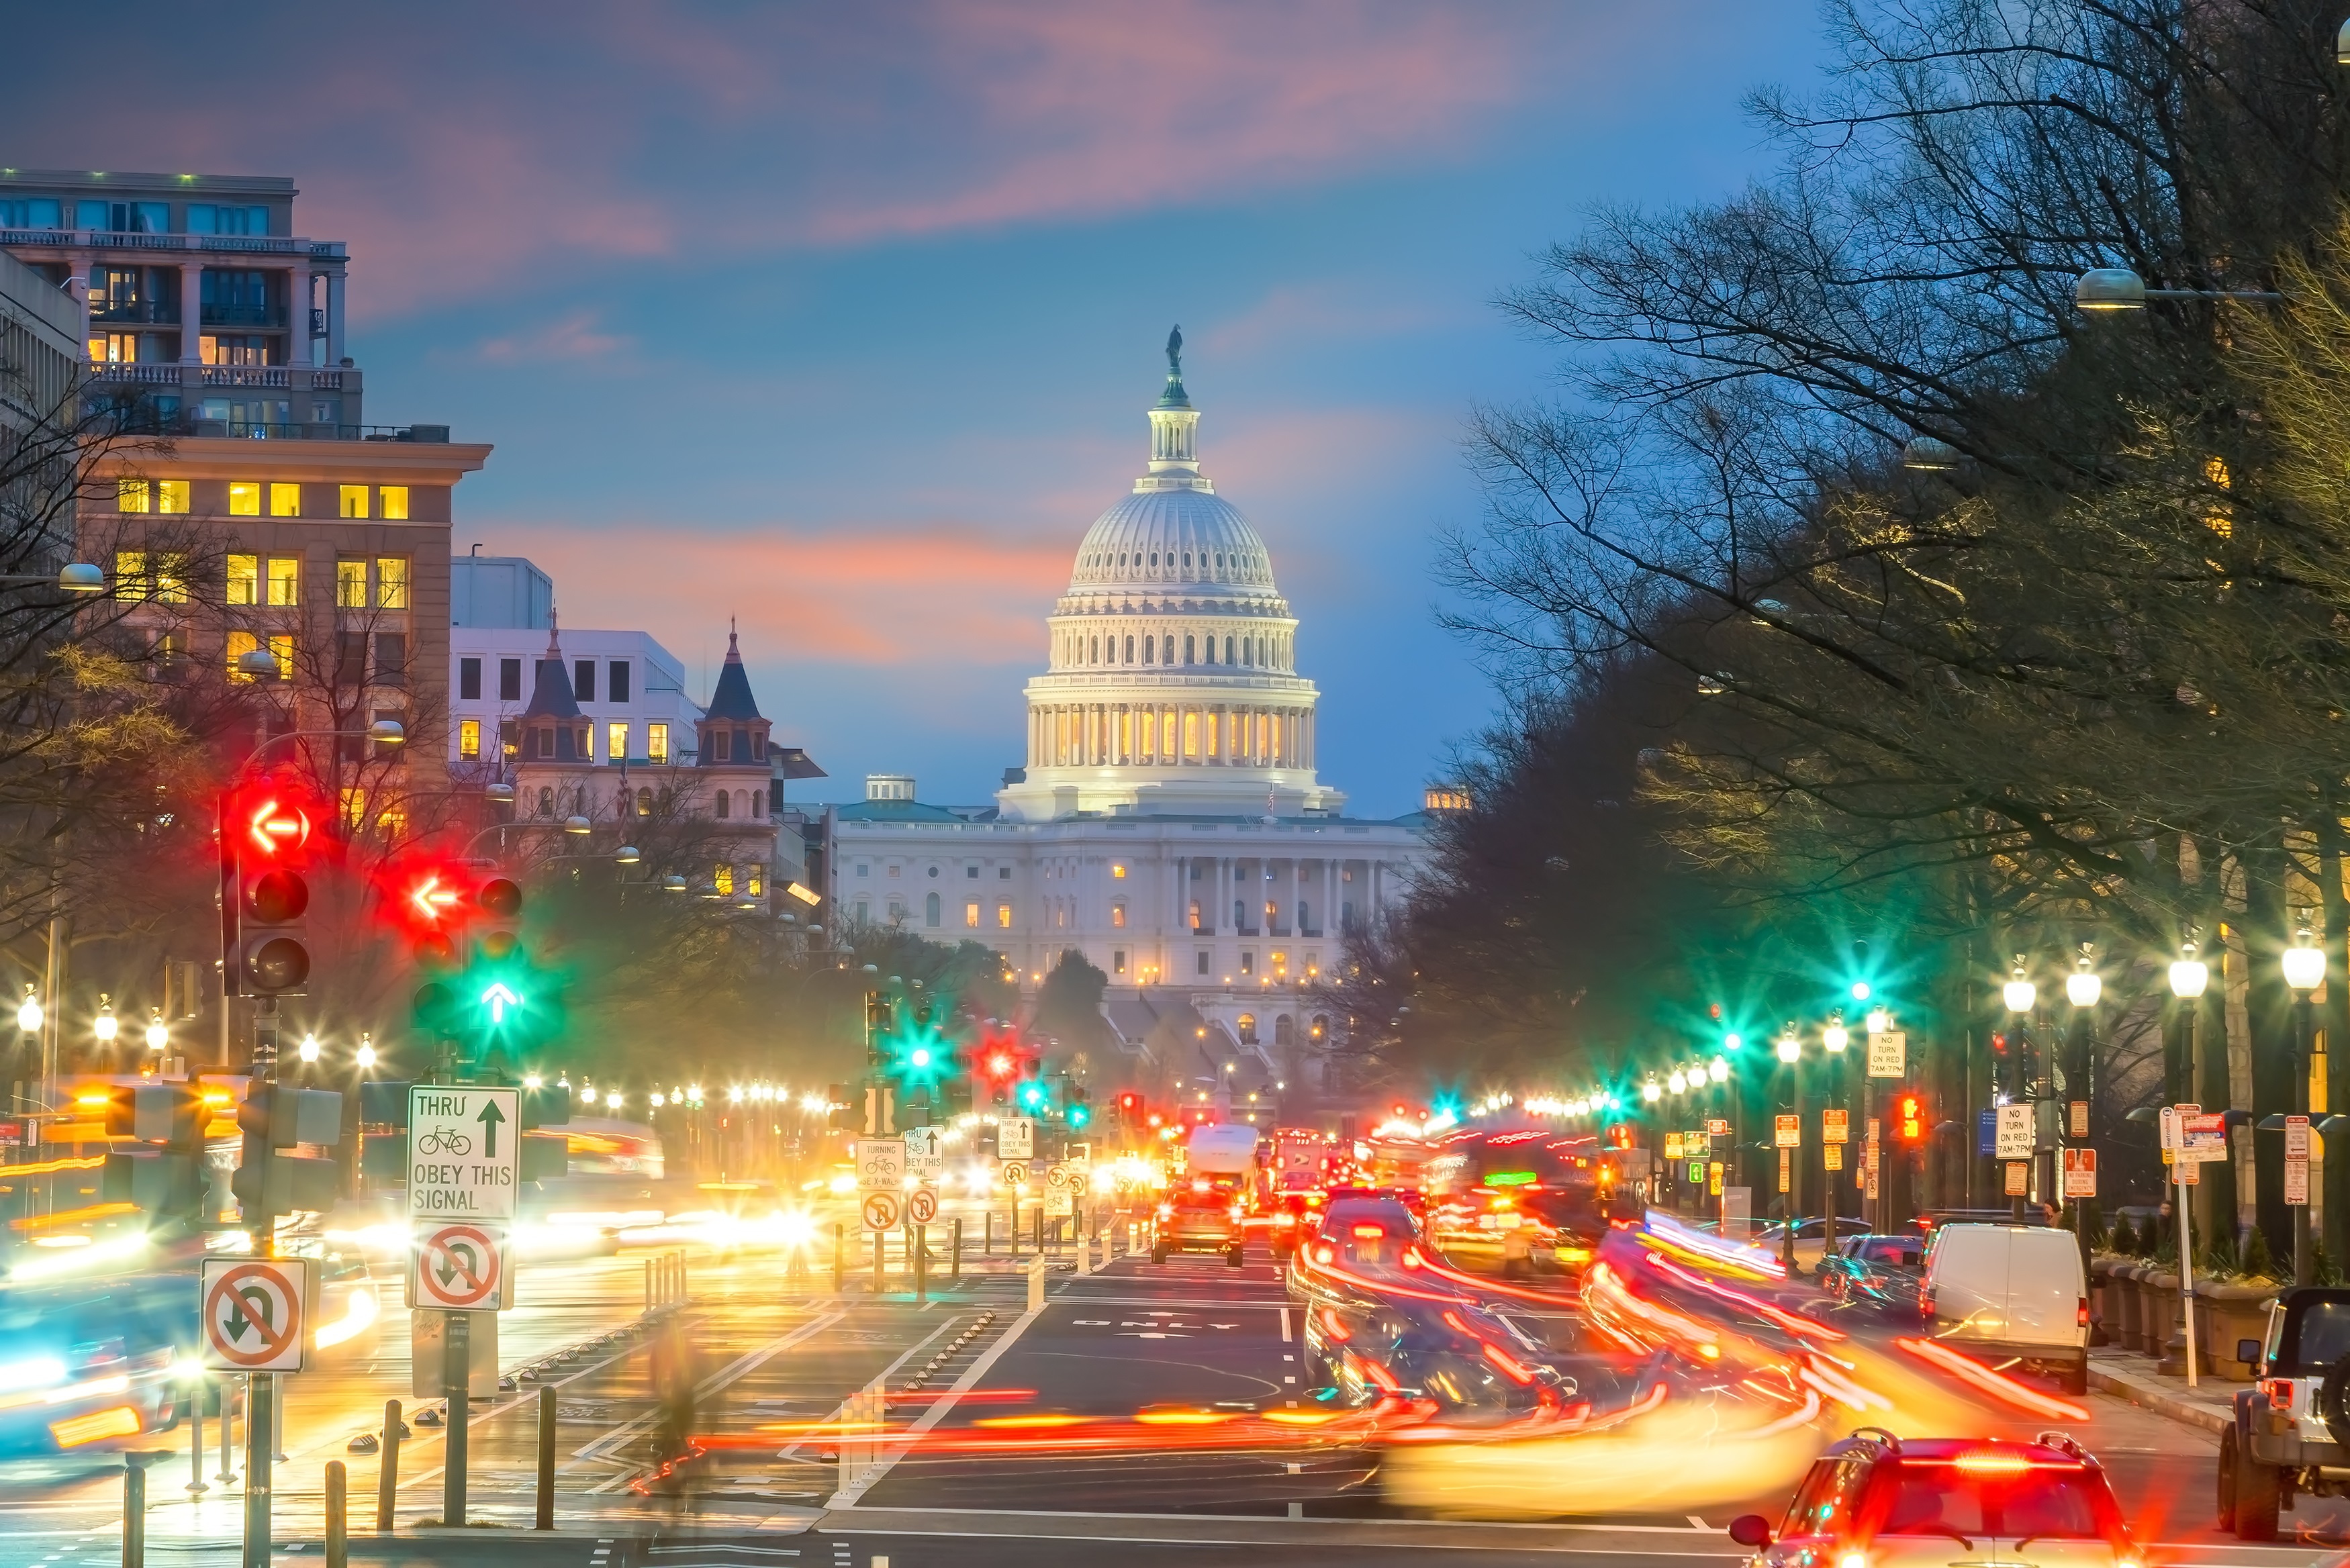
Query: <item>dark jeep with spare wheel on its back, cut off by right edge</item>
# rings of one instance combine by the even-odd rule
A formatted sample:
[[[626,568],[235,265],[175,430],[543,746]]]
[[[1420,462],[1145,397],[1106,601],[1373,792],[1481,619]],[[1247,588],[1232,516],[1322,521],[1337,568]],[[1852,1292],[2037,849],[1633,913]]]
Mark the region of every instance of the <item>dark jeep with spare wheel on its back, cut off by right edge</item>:
[[[2218,1526],[2275,1540],[2294,1493],[2350,1495],[2350,1291],[2287,1291],[2268,1309],[2268,1333],[2237,1354],[2254,1385],[2218,1434]]]

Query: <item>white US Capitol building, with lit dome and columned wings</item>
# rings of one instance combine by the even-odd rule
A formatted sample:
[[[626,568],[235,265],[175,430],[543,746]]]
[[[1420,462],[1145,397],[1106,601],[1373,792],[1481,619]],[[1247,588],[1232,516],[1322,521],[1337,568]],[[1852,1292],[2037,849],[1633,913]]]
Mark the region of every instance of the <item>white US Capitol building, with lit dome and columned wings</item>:
[[[1311,987],[1394,905],[1429,816],[1363,820],[1314,773],[1318,693],[1271,552],[1198,465],[1182,336],[1149,468],[1076,548],[1027,684],[1027,766],[992,809],[867,778],[827,813],[832,912],[980,940],[1034,992],[1069,947],[1109,976],[1133,1060],[1095,1084],[1267,1110],[1332,1025]],[[1107,1077],[1104,1077],[1107,1074]],[[1194,1088],[1196,1086],[1196,1088]],[[1297,1084],[1295,1088],[1307,1088]]]

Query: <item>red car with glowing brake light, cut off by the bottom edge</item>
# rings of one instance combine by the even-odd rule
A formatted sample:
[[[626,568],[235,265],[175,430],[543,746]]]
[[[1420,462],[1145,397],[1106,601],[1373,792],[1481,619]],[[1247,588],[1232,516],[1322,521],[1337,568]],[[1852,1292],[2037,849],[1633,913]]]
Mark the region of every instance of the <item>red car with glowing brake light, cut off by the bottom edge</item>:
[[[1831,1446],[1772,1528],[1762,1514],[1730,1521],[1748,1568],[1866,1563],[1948,1568],[1953,1544],[1972,1563],[2141,1568],[2103,1467],[2063,1432],[2012,1439],[1896,1439],[1864,1427]]]

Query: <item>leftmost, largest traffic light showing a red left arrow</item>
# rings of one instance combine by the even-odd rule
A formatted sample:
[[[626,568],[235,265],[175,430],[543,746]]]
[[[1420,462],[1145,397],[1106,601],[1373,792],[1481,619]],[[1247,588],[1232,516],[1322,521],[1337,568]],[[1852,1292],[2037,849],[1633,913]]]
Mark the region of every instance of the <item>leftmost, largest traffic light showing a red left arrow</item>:
[[[298,997],[310,978],[313,811],[282,780],[221,799],[221,976],[230,997]]]

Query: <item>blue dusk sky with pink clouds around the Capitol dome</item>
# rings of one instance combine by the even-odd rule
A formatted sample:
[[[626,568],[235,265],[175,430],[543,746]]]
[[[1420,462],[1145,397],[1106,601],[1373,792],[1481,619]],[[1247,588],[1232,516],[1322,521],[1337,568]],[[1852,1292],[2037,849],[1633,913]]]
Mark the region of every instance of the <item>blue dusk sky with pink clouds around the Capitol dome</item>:
[[[94,33],[92,28],[99,28]],[[0,162],[291,176],[350,242],[378,423],[494,442],[456,550],[778,741],[985,802],[1182,322],[1351,811],[1492,712],[1434,623],[1478,402],[1553,360],[1492,296],[1600,200],[1762,167],[1805,5],[242,5],[12,16]],[[99,66],[103,61],[103,66]]]

